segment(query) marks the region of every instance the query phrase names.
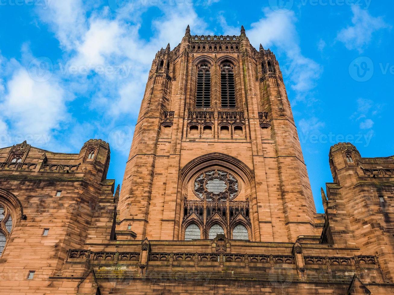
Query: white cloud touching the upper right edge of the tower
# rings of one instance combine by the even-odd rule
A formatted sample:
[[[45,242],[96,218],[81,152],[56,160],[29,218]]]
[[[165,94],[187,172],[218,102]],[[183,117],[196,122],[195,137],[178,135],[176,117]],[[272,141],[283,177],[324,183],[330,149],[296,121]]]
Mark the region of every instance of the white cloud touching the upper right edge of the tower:
[[[303,100],[307,93],[316,86],[316,80],[322,72],[321,66],[301,53],[295,23],[294,12],[275,13],[264,10],[265,17],[251,24],[246,32],[251,43],[258,48],[276,46],[279,53],[284,53],[288,61],[281,64],[284,76],[290,77],[291,87],[297,91],[297,100]],[[290,66],[287,66],[290,65]]]

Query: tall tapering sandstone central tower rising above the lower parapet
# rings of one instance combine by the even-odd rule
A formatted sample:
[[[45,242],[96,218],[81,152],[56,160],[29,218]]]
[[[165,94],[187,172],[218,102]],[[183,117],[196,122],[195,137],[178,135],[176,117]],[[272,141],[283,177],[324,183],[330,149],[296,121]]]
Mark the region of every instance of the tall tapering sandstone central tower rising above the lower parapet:
[[[314,235],[316,209],[279,63],[239,36],[190,35],[152,62],[119,198],[138,240]]]

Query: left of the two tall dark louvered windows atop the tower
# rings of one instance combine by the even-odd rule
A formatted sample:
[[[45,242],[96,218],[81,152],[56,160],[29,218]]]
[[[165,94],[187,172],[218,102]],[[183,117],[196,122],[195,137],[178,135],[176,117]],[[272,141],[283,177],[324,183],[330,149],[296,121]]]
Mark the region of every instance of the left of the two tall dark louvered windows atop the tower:
[[[198,68],[196,107],[211,107],[211,72],[206,63]]]

